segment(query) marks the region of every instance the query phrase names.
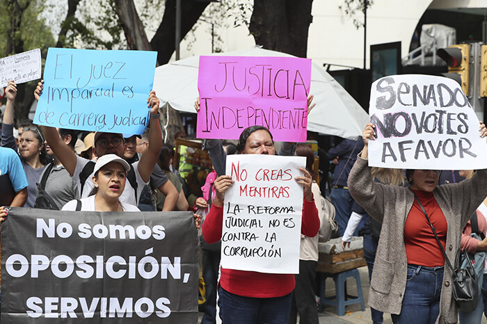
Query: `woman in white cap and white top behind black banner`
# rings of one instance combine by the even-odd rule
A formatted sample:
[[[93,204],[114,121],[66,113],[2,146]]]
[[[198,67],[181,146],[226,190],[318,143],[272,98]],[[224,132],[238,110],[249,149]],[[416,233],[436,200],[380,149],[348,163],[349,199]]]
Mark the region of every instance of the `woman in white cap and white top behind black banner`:
[[[71,200],[63,206],[63,211],[140,211],[136,206],[120,202],[125,189],[130,165],[115,154],[105,154],[98,158],[93,170],[93,189],[89,197]],[[78,204],[81,202],[81,209]]]

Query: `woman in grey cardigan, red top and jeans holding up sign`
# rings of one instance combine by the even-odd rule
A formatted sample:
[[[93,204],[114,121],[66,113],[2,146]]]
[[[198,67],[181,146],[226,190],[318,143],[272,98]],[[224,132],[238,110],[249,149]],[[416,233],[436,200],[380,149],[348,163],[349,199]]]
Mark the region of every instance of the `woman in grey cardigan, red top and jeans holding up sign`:
[[[482,122],[479,132],[481,137],[487,135]],[[487,170],[458,184],[438,186],[439,170],[408,170],[409,188],[378,184],[367,163],[374,133],[373,124],[367,124],[362,133],[365,146],[348,182],[358,204],[382,222],[369,306],[392,314],[394,323],[435,323],[438,314],[439,323],[456,323],[452,273],[445,269],[431,227],[453,261],[463,227],[487,196]]]

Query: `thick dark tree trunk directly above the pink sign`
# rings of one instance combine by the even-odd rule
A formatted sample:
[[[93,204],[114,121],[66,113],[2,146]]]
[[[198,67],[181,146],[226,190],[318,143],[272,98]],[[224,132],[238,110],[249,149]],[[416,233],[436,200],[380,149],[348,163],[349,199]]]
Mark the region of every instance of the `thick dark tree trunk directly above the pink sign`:
[[[255,0],[250,33],[265,49],[306,57],[312,0]]]

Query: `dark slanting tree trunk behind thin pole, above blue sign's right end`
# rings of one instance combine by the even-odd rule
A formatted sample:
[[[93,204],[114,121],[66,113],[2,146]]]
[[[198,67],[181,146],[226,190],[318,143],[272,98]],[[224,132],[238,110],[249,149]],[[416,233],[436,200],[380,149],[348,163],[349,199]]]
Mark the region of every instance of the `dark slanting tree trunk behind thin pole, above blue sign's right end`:
[[[191,31],[198,22],[209,1],[181,0],[181,38]],[[150,41],[152,49],[157,51],[159,65],[168,63],[176,48],[176,0],[166,0],[166,9],[154,37]]]

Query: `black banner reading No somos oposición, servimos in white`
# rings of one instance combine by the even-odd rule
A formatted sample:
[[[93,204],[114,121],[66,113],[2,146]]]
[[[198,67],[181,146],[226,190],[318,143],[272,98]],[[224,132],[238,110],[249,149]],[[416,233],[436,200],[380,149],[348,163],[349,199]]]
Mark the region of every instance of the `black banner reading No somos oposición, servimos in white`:
[[[192,213],[12,208],[1,223],[1,322],[197,321]]]

